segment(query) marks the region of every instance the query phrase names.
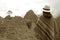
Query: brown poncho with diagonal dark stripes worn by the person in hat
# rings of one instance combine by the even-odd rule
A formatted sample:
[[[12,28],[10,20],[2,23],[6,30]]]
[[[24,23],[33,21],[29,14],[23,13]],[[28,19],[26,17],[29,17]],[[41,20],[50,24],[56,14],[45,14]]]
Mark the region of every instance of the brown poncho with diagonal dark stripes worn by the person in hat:
[[[57,34],[54,18],[47,19],[44,16],[40,16],[35,31],[39,34],[37,36],[40,40],[54,40]]]

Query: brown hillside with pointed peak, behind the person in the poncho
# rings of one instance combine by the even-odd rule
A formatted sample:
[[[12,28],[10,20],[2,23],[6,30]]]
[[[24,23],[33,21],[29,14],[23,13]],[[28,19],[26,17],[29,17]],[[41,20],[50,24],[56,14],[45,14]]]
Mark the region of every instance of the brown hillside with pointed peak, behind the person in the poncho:
[[[38,17],[29,10],[24,18],[20,16],[0,17],[0,40],[40,40],[40,29],[37,27]],[[60,39],[60,17],[56,18]]]

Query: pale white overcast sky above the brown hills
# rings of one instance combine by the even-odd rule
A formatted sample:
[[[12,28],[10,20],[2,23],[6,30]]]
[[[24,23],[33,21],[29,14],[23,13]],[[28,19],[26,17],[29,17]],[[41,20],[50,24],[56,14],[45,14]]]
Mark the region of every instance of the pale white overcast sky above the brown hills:
[[[7,16],[7,11],[11,10],[11,16],[24,16],[26,12],[32,9],[35,14],[41,14],[44,5],[51,6],[52,13],[56,14],[60,11],[60,0],[0,0],[0,16]]]

